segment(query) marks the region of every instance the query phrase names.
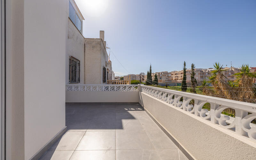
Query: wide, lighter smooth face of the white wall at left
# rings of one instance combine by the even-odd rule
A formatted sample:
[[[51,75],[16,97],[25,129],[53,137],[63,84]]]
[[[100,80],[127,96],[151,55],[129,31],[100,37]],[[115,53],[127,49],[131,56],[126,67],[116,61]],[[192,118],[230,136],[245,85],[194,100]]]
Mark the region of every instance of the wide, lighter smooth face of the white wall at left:
[[[24,1],[25,159],[65,127],[66,5]]]

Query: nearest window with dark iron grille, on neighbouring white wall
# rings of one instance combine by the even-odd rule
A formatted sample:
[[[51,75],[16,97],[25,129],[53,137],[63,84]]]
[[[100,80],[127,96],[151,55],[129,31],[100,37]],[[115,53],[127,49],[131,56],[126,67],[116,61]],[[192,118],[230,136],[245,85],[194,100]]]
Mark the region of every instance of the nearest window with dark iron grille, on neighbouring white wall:
[[[80,83],[80,60],[69,57],[69,83]]]

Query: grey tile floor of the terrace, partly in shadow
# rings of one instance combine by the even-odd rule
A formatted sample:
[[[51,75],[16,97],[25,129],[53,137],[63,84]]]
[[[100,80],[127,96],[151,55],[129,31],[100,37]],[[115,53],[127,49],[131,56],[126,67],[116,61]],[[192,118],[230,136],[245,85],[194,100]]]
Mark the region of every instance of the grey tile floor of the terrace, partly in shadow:
[[[67,132],[41,160],[185,160],[139,104],[66,105]]]

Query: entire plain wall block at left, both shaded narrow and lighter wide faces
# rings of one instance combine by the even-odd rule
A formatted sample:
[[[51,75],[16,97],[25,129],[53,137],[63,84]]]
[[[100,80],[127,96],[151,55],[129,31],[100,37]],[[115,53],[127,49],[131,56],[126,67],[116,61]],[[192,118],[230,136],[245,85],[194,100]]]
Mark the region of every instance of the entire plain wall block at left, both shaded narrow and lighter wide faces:
[[[65,127],[62,0],[10,0],[6,9],[6,159],[29,159]]]

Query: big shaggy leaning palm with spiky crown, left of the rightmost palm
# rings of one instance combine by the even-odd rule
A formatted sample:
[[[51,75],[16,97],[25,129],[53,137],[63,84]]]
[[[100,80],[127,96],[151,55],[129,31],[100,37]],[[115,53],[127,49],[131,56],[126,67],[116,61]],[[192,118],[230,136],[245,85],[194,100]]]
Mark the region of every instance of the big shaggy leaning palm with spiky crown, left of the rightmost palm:
[[[225,69],[222,66],[219,62],[213,64],[215,70],[212,71],[209,82],[212,84],[217,97],[236,100],[236,92],[226,83],[227,77],[224,76],[223,71]]]

